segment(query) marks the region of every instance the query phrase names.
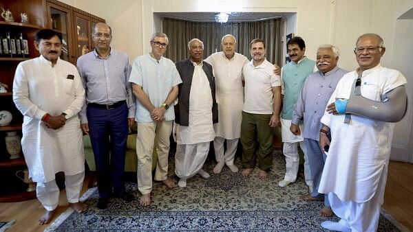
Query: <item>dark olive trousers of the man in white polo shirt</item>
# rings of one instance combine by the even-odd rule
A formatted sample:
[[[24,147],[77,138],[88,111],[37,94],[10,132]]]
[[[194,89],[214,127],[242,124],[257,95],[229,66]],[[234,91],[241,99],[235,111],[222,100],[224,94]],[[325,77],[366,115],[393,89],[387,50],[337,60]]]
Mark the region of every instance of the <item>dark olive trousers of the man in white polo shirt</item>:
[[[268,171],[273,164],[274,131],[268,124],[272,115],[258,115],[242,111],[241,143],[242,167],[253,168],[257,162],[255,144],[258,141],[258,167]],[[257,139],[257,140],[256,140]]]

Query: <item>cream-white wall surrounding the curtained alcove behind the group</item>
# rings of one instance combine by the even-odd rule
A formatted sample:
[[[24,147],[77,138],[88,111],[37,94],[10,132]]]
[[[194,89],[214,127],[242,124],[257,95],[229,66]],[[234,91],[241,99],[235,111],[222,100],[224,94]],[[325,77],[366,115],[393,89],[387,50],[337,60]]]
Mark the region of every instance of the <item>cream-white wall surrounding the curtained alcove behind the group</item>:
[[[332,43],[341,49],[339,66],[354,70],[357,63],[352,49],[357,37],[373,32],[380,34],[387,48],[382,65],[399,69],[407,78],[410,102],[413,102],[412,56],[395,43],[404,35],[410,43],[409,25],[396,21],[413,7],[413,0],[63,0],[77,8],[96,14],[114,28],[113,47],[127,52],[131,58],[149,51],[149,38],[159,28],[153,12],[297,12],[296,32],[306,40],[306,55],[314,59],[318,45]],[[397,22],[397,23],[396,23]],[[290,23],[290,22],[287,22]],[[408,28],[407,28],[408,27]],[[410,52],[412,54],[412,52]],[[401,61],[401,59],[405,60]],[[410,107],[412,108],[412,107]],[[412,113],[403,119],[394,132],[394,150],[412,154]],[[410,139],[410,141],[409,141]],[[409,144],[410,143],[410,144]]]

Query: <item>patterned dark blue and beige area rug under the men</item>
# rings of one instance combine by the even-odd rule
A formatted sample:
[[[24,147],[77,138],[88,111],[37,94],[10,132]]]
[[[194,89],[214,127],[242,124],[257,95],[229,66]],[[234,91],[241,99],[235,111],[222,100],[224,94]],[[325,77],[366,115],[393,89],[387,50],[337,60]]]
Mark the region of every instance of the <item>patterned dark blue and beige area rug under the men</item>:
[[[214,165],[207,160],[204,170],[211,174]],[[173,160],[169,166],[172,174]],[[189,179],[184,189],[167,189],[156,182],[150,207],[140,207],[138,198],[131,203],[112,199],[108,209],[100,210],[95,189],[85,201],[86,213],[72,213],[47,231],[325,231],[320,226],[326,220],[319,216],[321,202],[300,198],[308,192],[302,172],[296,183],[278,187],[284,172],[284,156],[277,150],[267,181],[260,181],[257,170],[243,177],[224,167],[221,174],[211,174],[209,179]],[[140,196],[136,183],[127,183],[127,189]],[[381,216],[378,231],[399,229]]]

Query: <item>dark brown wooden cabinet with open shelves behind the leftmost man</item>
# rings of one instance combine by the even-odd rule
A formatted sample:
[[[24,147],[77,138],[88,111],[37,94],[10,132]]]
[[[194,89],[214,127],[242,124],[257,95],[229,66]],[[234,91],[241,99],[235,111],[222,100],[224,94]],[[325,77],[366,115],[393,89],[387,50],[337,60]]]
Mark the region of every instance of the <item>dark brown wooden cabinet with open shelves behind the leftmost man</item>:
[[[5,202],[35,198],[33,192],[25,192],[27,185],[15,176],[17,171],[25,169],[24,159],[10,160],[4,139],[9,131],[17,131],[21,135],[23,116],[12,101],[12,84],[17,65],[23,60],[39,56],[34,47],[34,35],[43,28],[62,34],[61,59],[76,65],[79,56],[93,49],[92,26],[105,20],[56,0],[0,0],[1,8],[12,12],[14,22],[0,18],[0,36],[6,32],[12,36],[23,33],[28,40],[29,50],[29,54],[24,57],[0,55],[0,82],[8,85],[8,92],[0,93],[0,111],[10,111],[13,115],[10,125],[0,126],[0,181],[3,186],[8,186],[7,189],[0,189],[0,202]],[[28,15],[28,23],[19,23],[21,13]]]

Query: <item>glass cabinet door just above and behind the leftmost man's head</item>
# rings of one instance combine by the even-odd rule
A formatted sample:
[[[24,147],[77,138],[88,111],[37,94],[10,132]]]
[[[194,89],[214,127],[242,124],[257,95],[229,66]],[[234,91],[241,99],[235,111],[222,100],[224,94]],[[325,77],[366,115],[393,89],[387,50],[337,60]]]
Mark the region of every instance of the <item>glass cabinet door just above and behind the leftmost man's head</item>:
[[[70,12],[59,8],[59,6],[48,5],[47,13],[49,16],[49,28],[61,33],[62,35],[62,54],[61,59],[70,60]]]

